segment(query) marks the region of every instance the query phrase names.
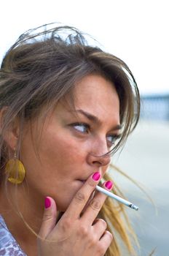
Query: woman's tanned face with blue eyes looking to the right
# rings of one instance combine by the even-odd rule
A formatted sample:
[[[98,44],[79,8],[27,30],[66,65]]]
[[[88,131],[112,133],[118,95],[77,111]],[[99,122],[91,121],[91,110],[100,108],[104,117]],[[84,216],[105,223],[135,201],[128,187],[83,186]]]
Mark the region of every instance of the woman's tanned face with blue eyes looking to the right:
[[[51,196],[65,211],[93,172],[106,172],[110,158],[101,155],[119,133],[117,92],[109,80],[88,75],[75,86],[74,108],[59,102],[44,124],[32,121],[28,126],[21,156],[29,193],[34,200]]]

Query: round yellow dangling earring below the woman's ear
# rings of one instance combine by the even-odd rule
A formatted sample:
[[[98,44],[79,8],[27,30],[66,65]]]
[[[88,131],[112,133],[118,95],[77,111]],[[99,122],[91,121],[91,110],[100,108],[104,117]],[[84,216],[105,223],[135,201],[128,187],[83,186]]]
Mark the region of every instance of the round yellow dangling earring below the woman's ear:
[[[25,178],[25,167],[23,163],[17,159],[16,151],[14,159],[9,159],[6,164],[5,171],[8,174],[7,180],[12,184],[21,184]]]

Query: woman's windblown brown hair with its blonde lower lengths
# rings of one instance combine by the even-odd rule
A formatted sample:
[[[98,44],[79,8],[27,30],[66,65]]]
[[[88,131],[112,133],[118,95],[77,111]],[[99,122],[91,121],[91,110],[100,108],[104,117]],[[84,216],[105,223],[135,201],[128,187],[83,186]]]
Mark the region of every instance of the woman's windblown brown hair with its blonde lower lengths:
[[[18,118],[22,131],[24,122],[39,118],[39,110],[44,106],[48,111],[66,95],[74,99],[74,85],[90,74],[102,75],[110,80],[117,91],[122,125],[122,138],[114,148],[117,151],[135,128],[140,113],[138,87],[125,62],[98,47],[88,45],[84,34],[69,26],[52,29],[42,26],[25,32],[17,39],[4,56],[0,71],[0,109],[9,107],[1,124],[0,176],[5,176],[4,165],[9,159],[4,133],[11,122]],[[17,157],[19,154],[18,143]],[[109,177],[106,175],[106,178]],[[114,192],[120,193],[119,189]],[[125,220],[120,217],[121,213]],[[113,225],[129,252],[133,253],[123,206],[115,206],[108,198],[100,215],[107,220],[109,230],[112,230]],[[133,234],[130,225],[128,230]],[[109,255],[120,255],[115,238],[106,252],[106,256]]]

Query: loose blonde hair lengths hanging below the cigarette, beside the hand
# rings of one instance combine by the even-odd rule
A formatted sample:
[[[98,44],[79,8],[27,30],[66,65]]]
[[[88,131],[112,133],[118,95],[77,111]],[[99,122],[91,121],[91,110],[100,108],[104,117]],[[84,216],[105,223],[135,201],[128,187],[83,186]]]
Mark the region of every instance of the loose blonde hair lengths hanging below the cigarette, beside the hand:
[[[116,169],[117,171],[119,170],[114,165],[111,165],[111,168]],[[110,180],[111,176],[106,173],[104,178]],[[114,184],[112,192],[125,198],[116,183]],[[108,197],[101,208],[99,217],[105,219],[108,225],[108,230],[118,236],[118,239],[114,236],[114,240],[112,241],[111,246],[107,249],[105,255],[120,256],[122,255],[121,247],[127,249],[130,255],[136,255],[133,243],[139,248],[138,239],[135,236],[133,227],[130,225],[127,214],[125,213],[125,206],[118,202],[114,202],[114,200],[111,200],[111,198]]]

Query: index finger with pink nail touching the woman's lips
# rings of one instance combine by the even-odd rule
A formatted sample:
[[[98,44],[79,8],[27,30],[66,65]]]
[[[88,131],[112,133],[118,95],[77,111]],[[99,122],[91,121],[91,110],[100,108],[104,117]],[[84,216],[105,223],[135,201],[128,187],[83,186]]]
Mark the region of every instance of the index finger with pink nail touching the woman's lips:
[[[63,214],[63,218],[79,218],[85,204],[87,203],[87,200],[89,200],[90,195],[93,193],[95,186],[98,184],[100,179],[101,173],[99,172],[95,172],[92,176],[87,178],[87,181],[84,183],[81,189],[79,189],[79,191],[76,192],[76,195],[74,196],[73,200],[68,206],[65,214]]]

